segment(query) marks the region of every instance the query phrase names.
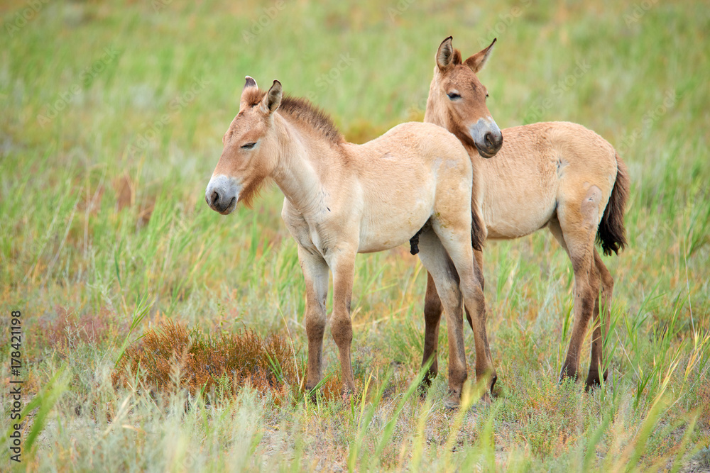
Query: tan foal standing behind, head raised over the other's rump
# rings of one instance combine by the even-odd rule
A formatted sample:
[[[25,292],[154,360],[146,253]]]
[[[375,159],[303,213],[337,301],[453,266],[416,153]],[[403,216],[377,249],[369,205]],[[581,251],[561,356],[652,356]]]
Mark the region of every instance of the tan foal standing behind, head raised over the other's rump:
[[[603,326],[605,335],[608,332],[613,290],[613,278],[599,257],[594,240],[601,243],[607,255],[626,245],[626,165],[601,136],[567,122],[506,128],[496,158],[482,160],[481,156],[488,157],[490,153],[461,131],[465,130],[465,122],[460,117],[467,110],[475,113],[480,108],[478,89],[482,86],[476,73],[495,43],[493,40],[488,48],[462,62],[458,50],[452,50],[451,38],[444,40],[437,51],[424,120],[452,131],[469,152],[474,167],[471,204],[481,206],[486,238],[510,240],[547,227],[569,255],[574,270],[574,325],[561,377],[577,378],[581,345],[593,318],[591,363],[586,379],[589,389],[601,383],[601,330]],[[480,251],[476,251],[476,260],[482,268]],[[426,294],[425,361],[436,353],[442,312],[431,277]],[[600,295],[606,323],[599,316]],[[436,374],[435,370],[432,374]],[[606,379],[606,372],[603,377]]]

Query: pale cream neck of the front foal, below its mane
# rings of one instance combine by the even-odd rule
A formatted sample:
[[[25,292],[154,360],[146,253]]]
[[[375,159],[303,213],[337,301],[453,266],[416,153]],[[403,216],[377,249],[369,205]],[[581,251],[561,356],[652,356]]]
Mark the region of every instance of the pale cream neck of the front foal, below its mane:
[[[288,201],[307,213],[322,200],[323,169],[336,153],[332,145],[294,126],[287,118],[275,115],[279,135],[278,165],[274,181]]]

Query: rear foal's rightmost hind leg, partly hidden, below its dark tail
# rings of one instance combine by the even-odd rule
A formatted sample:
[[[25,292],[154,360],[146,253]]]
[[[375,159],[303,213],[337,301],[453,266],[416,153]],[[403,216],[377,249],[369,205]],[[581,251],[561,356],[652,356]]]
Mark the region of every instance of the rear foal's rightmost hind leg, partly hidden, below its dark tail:
[[[609,324],[611,323],[611,295],[614,289],[614,279],[611,273],[606,269],[601,261],[599,252],[594,249],[594,264],[599,271],[599,279],[601,282],[600,297],[594,305],[594,337],[591,341],[591,361],[589,363],[589,376],[586,378],[586,387],[589,390],[594,386],[601,384],[599,370],[603,367],[603,340],[609,333]],[[601,331],[604,331],[604,338],[601,337]],[[606,380],[607,372],[604,371],[603,377]]]

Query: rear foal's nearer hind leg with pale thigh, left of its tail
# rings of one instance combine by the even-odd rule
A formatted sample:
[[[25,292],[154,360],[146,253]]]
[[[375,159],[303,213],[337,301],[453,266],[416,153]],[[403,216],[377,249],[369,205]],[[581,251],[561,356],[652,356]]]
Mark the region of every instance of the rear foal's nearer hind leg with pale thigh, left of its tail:
[[[599,304],[600,280],[594,260],[594,237],[599,224],[600,200],[601,190],[591,186],[581,196],[572,194],[560,201],[557,220],[550,221],[550,230],[567,250],[574,270],[574,324],[560,379],[577,379],[581,345],[589,319]]]

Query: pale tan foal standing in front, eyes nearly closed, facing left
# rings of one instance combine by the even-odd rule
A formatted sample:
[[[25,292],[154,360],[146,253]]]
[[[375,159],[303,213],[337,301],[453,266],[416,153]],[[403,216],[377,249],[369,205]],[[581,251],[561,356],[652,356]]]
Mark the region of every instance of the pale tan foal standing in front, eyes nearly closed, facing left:
[[[447,401],[458,404],[467,377],[461,301],[477,320],[485,313],[471,247],[471,160],[459,140],[430,123],[404,123],[364,145],[346,143],[330,118],[305,99],[282,97],[278,81],[263,91],[247,77],[239,113],[222,141],[222,157],[205,191],[211,208],[231,213],[237,203],[249,203],[268,178],[285,196],[281,215],[297,242],[306,283],[306,388],[322,379],[329,270],[331,331],[349,392],[355,389],[350,362],[355,256],[401,245],[420,233],[422,264],[447,311]],[[481,363],[487,366],[486,360]]]

